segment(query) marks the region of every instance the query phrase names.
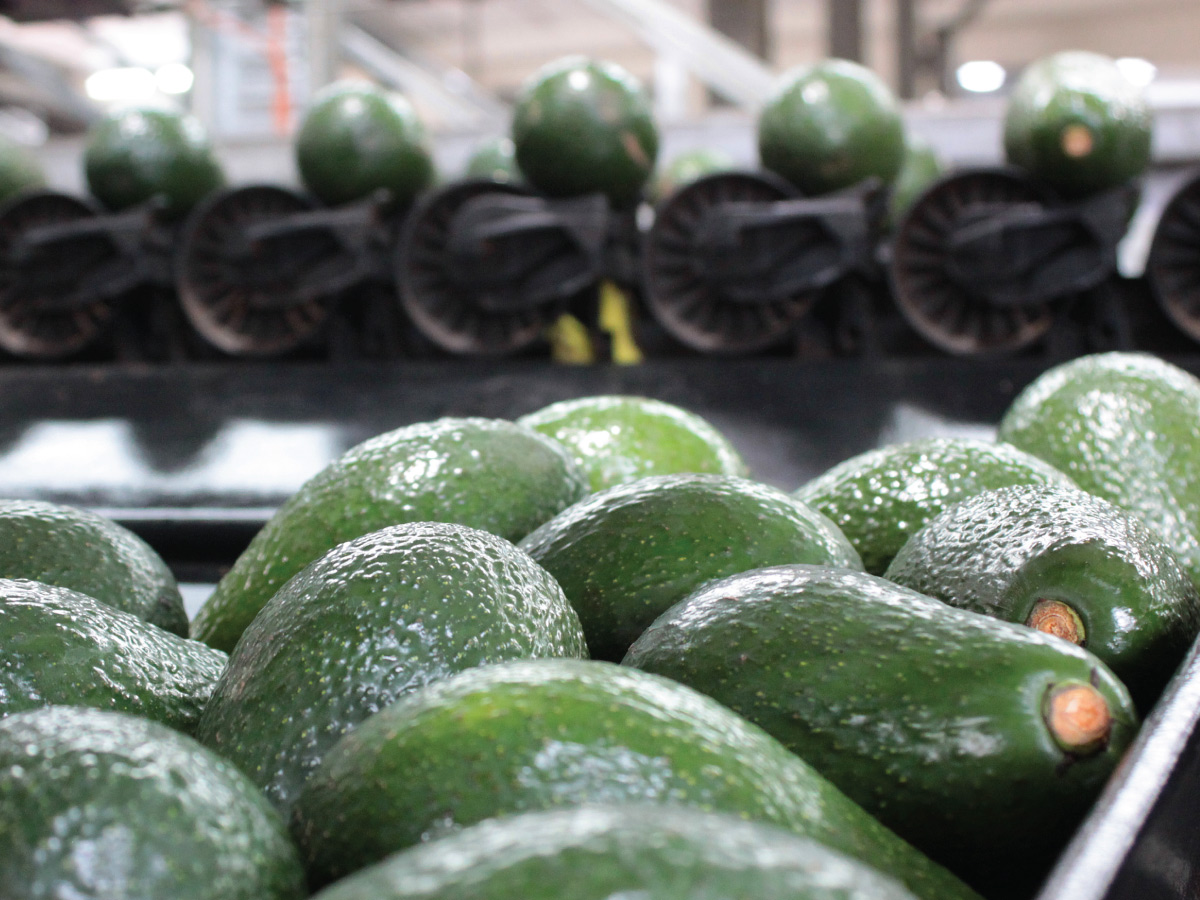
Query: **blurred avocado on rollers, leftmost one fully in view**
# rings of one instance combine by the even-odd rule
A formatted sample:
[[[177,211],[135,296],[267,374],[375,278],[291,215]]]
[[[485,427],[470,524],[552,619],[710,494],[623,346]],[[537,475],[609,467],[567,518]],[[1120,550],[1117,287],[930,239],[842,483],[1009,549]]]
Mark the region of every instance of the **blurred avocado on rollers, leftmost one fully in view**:
[[[162,197],[181,217],[224,184],[200,122],[167,109],[112,113],[88,134],[83,158],[88,190],[110,210]]]

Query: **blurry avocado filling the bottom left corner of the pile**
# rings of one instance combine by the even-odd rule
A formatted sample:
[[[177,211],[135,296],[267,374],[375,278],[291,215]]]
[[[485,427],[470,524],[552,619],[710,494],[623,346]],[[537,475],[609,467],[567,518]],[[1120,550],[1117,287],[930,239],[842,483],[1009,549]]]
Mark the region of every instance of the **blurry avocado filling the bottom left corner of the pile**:
[[[278,814],[164,725],[48,707],[0,720],[0,884],[11,900],[299,900]]]

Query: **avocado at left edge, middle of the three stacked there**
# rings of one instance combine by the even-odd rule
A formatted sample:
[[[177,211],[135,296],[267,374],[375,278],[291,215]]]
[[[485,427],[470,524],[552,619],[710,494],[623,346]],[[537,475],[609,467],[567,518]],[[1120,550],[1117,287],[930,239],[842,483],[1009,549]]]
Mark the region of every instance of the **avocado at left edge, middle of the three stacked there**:
[[[0,578],[0,716],[49,704],[191,733],[228,658],[84,594]]]

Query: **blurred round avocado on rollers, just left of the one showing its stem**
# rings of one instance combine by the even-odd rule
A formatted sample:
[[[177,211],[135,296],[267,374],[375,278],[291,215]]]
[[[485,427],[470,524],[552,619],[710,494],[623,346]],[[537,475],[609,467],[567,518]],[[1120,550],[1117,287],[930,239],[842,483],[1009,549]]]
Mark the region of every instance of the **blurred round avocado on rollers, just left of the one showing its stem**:
[[[872,175],[890,184],[905,156],[900,106],[857,62],[828,59],[793,68],[758,116],[758,155],[809,196]]]

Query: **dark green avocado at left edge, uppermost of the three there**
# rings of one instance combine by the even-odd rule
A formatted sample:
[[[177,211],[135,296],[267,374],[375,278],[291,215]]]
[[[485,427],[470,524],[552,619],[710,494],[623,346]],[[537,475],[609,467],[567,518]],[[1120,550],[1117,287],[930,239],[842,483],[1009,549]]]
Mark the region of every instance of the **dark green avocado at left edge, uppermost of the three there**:
[[[78,590],[187,636],[175,576],[144,540],[95,512],[40,500],[0,500],[0,577]]]

